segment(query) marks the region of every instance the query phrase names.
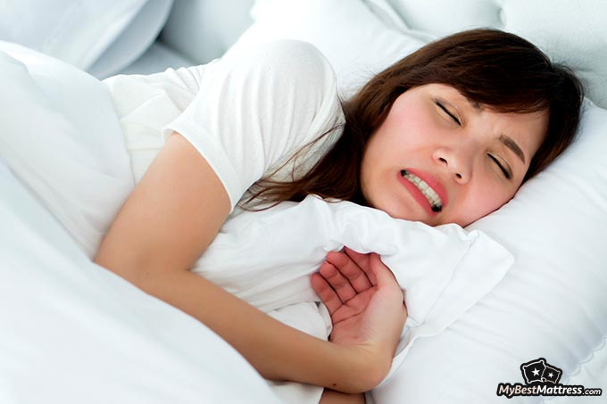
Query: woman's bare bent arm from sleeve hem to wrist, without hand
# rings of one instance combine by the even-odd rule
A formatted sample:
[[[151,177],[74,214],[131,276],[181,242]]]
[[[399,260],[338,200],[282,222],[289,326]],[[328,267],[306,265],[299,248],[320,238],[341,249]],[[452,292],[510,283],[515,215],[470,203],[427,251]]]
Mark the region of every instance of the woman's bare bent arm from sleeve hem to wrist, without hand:
[[[266,378],[342,392],[379,383],[394,351],[390,343],[322,341],[189,271],[228,214],[219,178],[186,139],[173,134],[122,207],[95,261],[209,326]]]

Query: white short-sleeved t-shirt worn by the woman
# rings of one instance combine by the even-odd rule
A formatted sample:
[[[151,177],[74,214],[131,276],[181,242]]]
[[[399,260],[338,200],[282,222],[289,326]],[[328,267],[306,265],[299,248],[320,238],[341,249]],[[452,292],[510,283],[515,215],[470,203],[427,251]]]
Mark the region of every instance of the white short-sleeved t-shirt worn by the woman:
[[[314,46],[299,41],[104,83],[112,93],[136,182],[176,131],[209,162],[232,210],[261,177],[290,179],[294,168],[295,177],[301,177],[341,135],[344,122],[334,71]]]

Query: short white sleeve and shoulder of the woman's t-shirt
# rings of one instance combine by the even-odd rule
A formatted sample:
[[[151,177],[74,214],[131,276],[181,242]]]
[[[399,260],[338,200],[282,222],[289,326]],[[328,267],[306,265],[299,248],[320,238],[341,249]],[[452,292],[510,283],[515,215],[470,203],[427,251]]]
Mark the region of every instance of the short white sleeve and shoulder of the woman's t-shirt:
[[[194,100],[162,135],[175,131],[194,145],[233,210],[269,169],[342,122],[335,73],[324,56],[304,42],[279,41],[206,65]],[[323,137],[324,149],[333,132]]]

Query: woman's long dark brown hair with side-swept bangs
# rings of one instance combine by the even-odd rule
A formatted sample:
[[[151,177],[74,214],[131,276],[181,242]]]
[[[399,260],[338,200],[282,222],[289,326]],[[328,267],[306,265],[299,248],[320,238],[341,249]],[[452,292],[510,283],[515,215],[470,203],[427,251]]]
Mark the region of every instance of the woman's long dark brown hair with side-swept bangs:
[[[359,182],[365,145],[399,95],[430,83],[454,87],[470,102],[498,112],[548,111],[547,133],[525,180],[556,159],[578,128],[583,90],[568,68],[550,62],[516,35],[496,29],[464,31],[423,46],[371,78],[342,103],[344,132],[328,153],[300,179],[262,178],[248,202],[299,202],[318,194],[366,205]]]

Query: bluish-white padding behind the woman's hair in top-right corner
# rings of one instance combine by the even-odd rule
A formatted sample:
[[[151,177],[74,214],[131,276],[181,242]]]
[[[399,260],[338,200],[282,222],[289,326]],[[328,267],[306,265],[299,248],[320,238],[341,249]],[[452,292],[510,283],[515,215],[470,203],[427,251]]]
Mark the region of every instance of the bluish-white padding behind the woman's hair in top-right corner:
[[[578,70],[587,96],[607,108],[607,3],[589,0],[369,0],[387,2],[409,29],[444,36],[493,27],[526,37],[554,61]]]

